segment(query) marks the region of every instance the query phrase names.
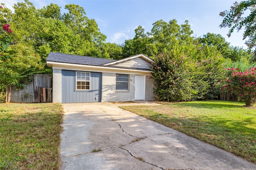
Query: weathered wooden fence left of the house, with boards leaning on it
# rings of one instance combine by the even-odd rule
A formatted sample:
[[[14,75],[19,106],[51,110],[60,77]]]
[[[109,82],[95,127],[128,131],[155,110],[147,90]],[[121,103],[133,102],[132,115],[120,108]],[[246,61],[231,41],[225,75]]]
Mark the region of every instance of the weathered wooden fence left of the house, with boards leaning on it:
[[[52,75],[34,74],[33,81],[25,84],[26,86],[23,89],[12,88],[10,102],[52,102]]]

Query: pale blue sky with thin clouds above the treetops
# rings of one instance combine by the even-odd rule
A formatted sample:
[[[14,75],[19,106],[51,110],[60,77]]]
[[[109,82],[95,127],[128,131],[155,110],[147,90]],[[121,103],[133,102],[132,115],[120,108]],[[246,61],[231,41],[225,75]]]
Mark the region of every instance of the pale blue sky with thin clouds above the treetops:
[[[22,0],[0,0],[8,8]],[[145,31],[152,29],[157,20],[166,22],[176,19],[179,24],[188,20],[194,37],[208,32],[221,34],[230,45],[247,48],[242,40],[243,31],[235,31],[230,38],[228,28],[219,27],[222,22],[220,12],[229,10],[235,0],[30,0],[36,8],[51,2],[61,6],[78,4],[86,11],[88,18],[95,19],[100,31],[107,36],[106,41],[122,44],[134,37],[134,29],[142,25]],[[240,1],[238,1],[240,2]]]

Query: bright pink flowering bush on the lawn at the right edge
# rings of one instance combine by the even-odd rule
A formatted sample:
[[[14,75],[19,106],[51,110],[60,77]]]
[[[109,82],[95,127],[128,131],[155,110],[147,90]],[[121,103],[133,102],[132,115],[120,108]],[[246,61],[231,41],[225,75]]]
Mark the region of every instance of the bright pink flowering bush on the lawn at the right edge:
[[[227,70],[230,76],[225,79],[226,84],[221,90],[231,91],[244,100],[245,106],[253,106],[256,103],[256,67],[245,72],[234,67]]]

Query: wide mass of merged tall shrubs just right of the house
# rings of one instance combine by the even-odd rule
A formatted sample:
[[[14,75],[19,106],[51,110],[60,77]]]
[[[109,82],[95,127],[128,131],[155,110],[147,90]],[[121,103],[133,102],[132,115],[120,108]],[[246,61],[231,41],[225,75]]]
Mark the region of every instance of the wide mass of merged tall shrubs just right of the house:
[[[170,53],[154,56],[152,77],[158,100],[178,102],[216,99],[225,76],[224,59],[208,54],[202,60],[184,55],[176,44]]]

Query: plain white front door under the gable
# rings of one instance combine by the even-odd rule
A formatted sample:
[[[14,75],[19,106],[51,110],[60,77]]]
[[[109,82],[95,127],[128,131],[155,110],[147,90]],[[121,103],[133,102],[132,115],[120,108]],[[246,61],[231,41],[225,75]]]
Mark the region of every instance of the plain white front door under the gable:
[[[144,76],[135,75],[135,100],[144,100]]]

